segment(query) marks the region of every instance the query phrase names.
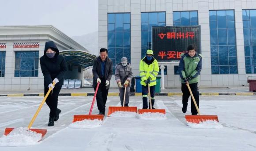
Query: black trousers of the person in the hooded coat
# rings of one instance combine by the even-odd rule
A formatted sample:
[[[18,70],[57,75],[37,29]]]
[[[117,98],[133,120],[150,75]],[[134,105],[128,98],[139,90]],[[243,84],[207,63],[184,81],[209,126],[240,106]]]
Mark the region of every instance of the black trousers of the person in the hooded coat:
[[[45,95],[48,92],[49,87],[45,87]],[[61,86],[55,86],[53,90],[49,93],[49,96],[46,99],[46,104],[50,108],[50,117],[54,117],[56,115],[56,109],[58,106],[58,96],[61,90]]]

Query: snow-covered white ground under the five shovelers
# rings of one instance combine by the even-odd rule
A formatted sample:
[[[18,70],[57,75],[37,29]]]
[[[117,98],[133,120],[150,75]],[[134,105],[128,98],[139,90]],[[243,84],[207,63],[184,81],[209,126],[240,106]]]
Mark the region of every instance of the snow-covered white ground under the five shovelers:
[[[41,100],[0,97],[0,134],[6,127],[26,127]],[[166,118],[161,120],[117,115],[105,116],[102,123],[89,128],[70,125],[73,115],[88,114],[91,100],[59,97],[62,112],[52,127],[47,126],[49,108],[44,104],[32,128],[47,129],[45,137],[34,145],[19,147],[1,143],[2,137],[0,151],[256,151],[255,96],[200,96],[201,114],[218,115],[219,127],[208,127],[211,123],[201,128],[188,126],[181,112],[181,96],[156,96],[155,108],[166,109]],[[120,106],[119,97],[108,97],[106,105],[107,114],[108,106]],[[142,108],[141,97],[130,97],[129,106]],[[93,114],[98,114],[96,104]],[[186,114],[191,114],[190,101]]]

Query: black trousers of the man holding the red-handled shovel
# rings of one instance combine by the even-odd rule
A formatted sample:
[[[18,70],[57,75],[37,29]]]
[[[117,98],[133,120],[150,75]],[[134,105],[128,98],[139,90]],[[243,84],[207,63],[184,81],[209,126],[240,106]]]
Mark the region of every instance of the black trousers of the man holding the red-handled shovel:
[[[108,93],[109,93],[109,89],[106,89],[106,81],[101,79],[101,83],[99,85],[99,88],[98,88],[98,92],[96,94],[96,101],[97,101],[97,107],[98,107],[98,110],[100,112],[103,112],[105,113],[105,105],[106,105],[106,102],[107,102],[107,97],[108,97]],[[96,92],[96,87],[94,87],[94,91]]]

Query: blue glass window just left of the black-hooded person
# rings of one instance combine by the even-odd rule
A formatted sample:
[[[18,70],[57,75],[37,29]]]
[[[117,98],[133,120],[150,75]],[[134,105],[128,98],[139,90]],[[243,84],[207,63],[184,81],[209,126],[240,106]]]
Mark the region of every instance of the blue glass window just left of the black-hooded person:
[[[15,54],[15,77],[38,76],[38,51],[20,51]]]

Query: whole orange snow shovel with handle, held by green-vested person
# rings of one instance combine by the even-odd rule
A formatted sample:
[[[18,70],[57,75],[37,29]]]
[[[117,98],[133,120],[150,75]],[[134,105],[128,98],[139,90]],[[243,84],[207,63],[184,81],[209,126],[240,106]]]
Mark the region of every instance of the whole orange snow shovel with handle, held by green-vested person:
[[[197,124],[199,124],[200,122],[203,122],[203,121],[207,121],[207,120],[218,122],[218,116],[217,115],[200,115],[199,108],[196,104],[196,100],[193,96],[193,93],[190,89],[190,86],[189,86],[188,83],[186,83],[186,85],[188,86],[189,93],[192,97],[192,100],[193,100],[195,106],[196,106],[196,111],[198,112],[198,115],[185,115],[185,119],[187,120],[187,122],[192,122],[192,123],[197,123]]]

